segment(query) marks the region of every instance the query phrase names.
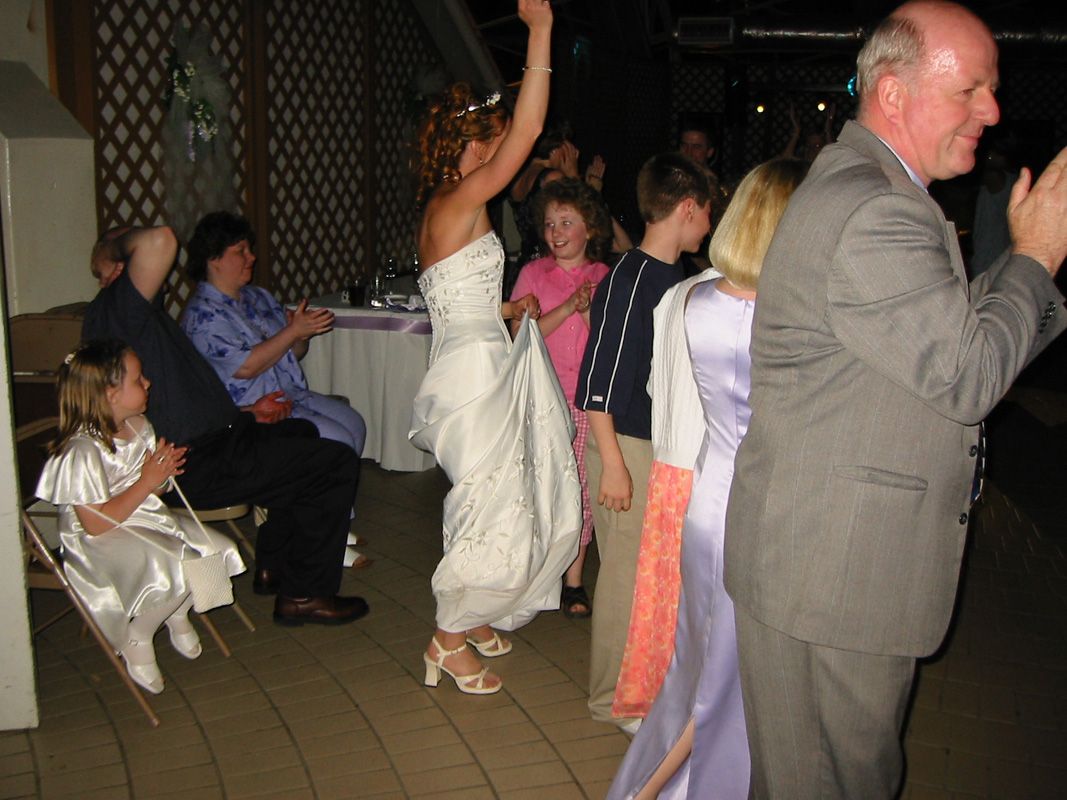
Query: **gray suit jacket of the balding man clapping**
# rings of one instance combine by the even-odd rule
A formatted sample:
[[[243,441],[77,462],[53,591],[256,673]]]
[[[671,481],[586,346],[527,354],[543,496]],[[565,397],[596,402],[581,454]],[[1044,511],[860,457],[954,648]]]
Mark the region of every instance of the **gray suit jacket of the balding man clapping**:
[[[968,285],[953,225],[849,123],[764,261],[726,586],[803,641],[922,656],[952,614],[977,423],[1067,324],[1036,261]]]

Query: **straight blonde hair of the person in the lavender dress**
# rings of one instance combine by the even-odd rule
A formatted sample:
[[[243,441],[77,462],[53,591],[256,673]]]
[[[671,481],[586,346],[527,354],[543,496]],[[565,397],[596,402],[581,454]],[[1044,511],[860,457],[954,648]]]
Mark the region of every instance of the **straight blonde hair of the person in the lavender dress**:
[[[795,158],[766,161],[734,192],[707,247],[707,259],[738,289],[755,291],[775,228],[808,166]]]

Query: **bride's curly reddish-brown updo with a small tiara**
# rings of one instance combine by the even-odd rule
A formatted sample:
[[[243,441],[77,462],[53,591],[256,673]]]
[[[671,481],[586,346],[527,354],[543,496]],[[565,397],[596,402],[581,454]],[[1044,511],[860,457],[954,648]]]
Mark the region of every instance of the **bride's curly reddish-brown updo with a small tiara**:
[[[416,203],[421,208],[442,183],[458,183],[460,157],[467,142],[491,142],[504,132],[508,112],[499,94],[488,99],[456,83],[437,97],[415,133],[412,172],[418,181]]]

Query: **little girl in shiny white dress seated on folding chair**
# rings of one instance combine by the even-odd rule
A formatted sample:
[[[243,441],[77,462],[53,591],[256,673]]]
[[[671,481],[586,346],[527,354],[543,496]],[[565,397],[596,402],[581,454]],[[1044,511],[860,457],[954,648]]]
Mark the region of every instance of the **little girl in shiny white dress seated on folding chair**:
[[[36,494],[60,508],[71,586],[130,677],[158,694],[163,676],[152,640],[164,622],[174,650],[201,654],[182,559],[221,551],[230,576],[244,564],[229,539],[175,516],[159,498],[181,475],[186,448],[156,442],[143,416],[149,385],[141,359],[121,341],[89,342],[68,355],[59,374],[60,434]]]

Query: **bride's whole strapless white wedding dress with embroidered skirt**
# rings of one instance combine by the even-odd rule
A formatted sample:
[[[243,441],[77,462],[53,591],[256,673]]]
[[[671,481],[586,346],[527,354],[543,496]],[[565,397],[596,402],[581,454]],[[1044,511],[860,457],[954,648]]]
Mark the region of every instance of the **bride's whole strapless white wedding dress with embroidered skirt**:
[[[503,272],[490,231],[418,279],[433,343],[409,435],[452,482],[432,581],[448,631],[514,630],[559,608],[582,531],[574,423],[537,322],[508,335]]]

